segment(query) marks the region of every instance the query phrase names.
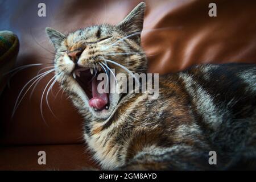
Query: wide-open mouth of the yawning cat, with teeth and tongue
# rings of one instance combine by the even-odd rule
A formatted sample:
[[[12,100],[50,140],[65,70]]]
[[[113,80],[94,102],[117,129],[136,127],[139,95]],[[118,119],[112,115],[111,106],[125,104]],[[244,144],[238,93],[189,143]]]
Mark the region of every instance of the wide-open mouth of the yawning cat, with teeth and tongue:
[[[79,83],[81,88],[89,98],[89,106],[96,111],[109,109],[109,94],[105,92],[99,92],[98,84],[101,80],[97,80],[100,73],[104,73],[102,69],[92,68],[76,68],[73,71],[73,77]]]

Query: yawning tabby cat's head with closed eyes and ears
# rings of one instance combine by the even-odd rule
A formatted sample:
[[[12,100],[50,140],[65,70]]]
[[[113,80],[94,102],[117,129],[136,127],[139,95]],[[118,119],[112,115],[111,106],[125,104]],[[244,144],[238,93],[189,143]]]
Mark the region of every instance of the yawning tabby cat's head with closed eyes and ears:
[[[46,28],[56,52],[55,76],[80,111],[89,109],[97,118],[108,118],[117,106],[121,94],[98,93],[100,73],[110,77],[113,72],[109,69],[114,69],[114,75],[146,72],[147,61],[141,48],[144,9],[145,4],[139,3],[114,26],[102,24],[68,35]],[[113,82],[109,86],[113,88]]]

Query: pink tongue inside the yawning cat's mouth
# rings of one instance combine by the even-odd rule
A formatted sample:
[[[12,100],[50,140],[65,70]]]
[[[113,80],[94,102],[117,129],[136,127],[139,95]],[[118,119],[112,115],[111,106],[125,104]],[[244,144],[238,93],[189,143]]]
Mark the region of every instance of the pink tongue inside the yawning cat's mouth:
[[[106,93],[98,93],[97,86],[100,80],[96,78],[92,81],[92,94],[93,98],[90,99],[89,105],[96,109],[104,109],[106,104],[108,104],[108,96]]]

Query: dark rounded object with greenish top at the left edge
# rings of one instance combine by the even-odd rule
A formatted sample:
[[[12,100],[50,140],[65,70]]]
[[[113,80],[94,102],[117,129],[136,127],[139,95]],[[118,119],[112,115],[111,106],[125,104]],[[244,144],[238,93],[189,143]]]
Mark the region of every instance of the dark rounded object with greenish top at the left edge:
[[[0,31],[0,94],[5,88],[9,72],[19,52],[19,39],[11,31]]]

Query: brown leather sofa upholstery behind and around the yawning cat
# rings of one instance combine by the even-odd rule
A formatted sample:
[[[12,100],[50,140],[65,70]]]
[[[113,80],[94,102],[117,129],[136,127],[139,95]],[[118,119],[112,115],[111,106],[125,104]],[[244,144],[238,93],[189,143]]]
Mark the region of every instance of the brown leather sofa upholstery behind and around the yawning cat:
[[[53,47],[46,37],[46,27],[67,33],[97,23],[118,23],[140,1],[40,2],[46,3],[46,17],[37,16],[39,1],[19,2],[16,9],[8,11],[2,11],[3,7],[0,7],[4,17],[10,18],[7,27],[20,39],[17,66],[52,63]],[[148,55],[148,72],[176,72],[200,63],[256,63],[255,1],[216,0],[217,17],[208,16],[208,5],[212,1],[145,2],[142,46]],[[36,163],[36,151],[42,147],[30,145],[51,145],[46,147],[49,160],[52,160],[49,163],[55,163],[58,169],[74,169],[76,163],[79,169],[82,165],[82,162],[78,162],[80,159],[84,166],[89,164],[84,160],[81,147],[73,147],[74,144],[84,143],[82,118],[65,94],[62,100],[61,92],[55,98],[59,90],[57,84],[53,94],[49,94],[49,104],[57,119],[49,111],[45,96],[43,116],[47,125],[41,117],[40,99],[52,75],[38,84],[31,99],[30,92],[27,93],[13,119],[10,118],[20,90],[41,68],[28,68],[18,73],[11,80],[11,88],[6,88],[0,98],[0,143],[13,146],[0,149],[0,169],[46,169]],[[22,147],[14,147],[17,144]],[[59,144],[64,147],[59,147]],[[63,155],[59,155],[60,152]],[[65,152],[75,154],[73,162],[71,159],[68,159],[70,163],[60,162],[67,158]],[[17,164],[19,158],[27,160]]]

